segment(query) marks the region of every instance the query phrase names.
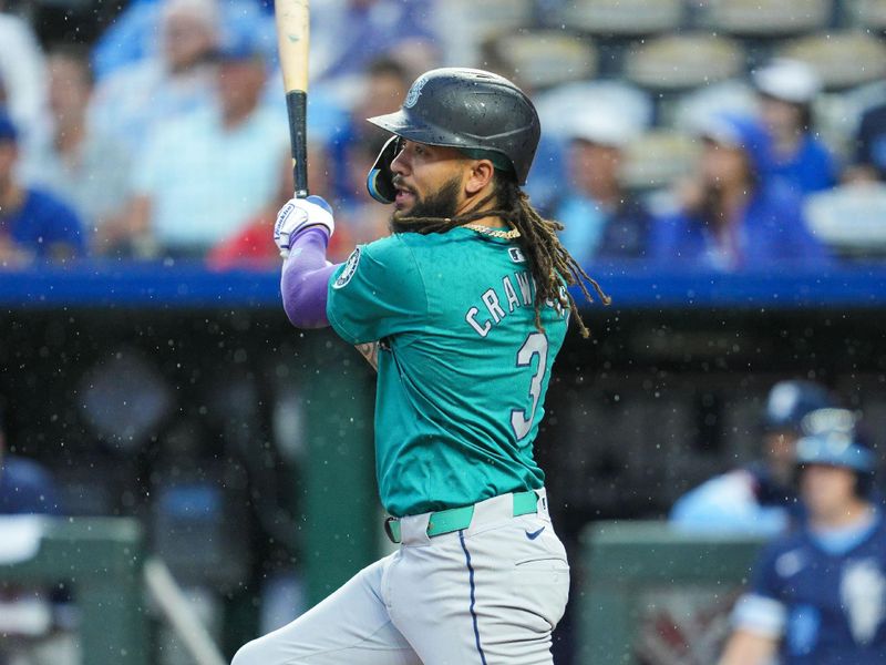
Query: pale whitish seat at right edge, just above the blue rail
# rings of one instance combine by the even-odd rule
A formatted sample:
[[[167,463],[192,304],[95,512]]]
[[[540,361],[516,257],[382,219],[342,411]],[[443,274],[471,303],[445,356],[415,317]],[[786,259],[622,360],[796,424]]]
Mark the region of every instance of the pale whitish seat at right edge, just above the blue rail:
[[[805,214],[815,235],[842,254],[886,255],[886,185],[844,185],[810,196]]]

